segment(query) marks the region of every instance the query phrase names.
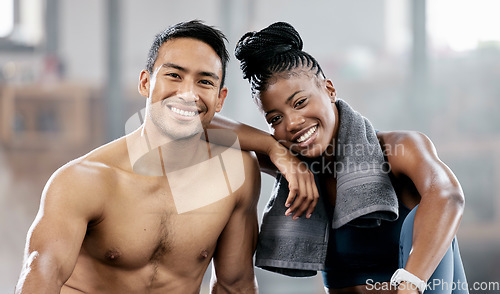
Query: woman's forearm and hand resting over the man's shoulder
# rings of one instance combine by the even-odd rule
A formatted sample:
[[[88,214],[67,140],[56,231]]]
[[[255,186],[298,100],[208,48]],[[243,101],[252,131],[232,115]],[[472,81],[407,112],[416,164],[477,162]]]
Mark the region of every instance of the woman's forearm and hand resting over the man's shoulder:
[[[261,171],[273,176],[276,176],[278,171],[283,174],[290,190],[285,202],[286,207],[289,207],[286,215],[293,214],[296,219],[305,212],[307,218],[311,216],[319,199],[314,175],[286,147],[269,133],[221,115],[214,116],[209,128],[226,129],[236,133],[241,149],[257,153]],[[224,138],[218,140],[215,143],[231,146],[229,142],[224,142]]]

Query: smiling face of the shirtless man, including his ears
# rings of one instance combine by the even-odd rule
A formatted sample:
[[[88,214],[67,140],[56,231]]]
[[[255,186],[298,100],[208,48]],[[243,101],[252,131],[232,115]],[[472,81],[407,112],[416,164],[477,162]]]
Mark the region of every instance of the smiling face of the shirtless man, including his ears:
[[[172,139],[199,134],[222,108],[227,89],[220,88],[221,78],[222,62],[208,44],[168,40],[158,51],[153,74],[141,73],[147,119]]]

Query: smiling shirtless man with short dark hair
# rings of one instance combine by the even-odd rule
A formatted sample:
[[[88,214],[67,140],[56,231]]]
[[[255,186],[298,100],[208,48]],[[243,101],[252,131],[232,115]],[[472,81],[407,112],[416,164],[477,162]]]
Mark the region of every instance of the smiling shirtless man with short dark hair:
[[[201,140],[227,60],[223,34],[200,22],[157,35],[143,124],[50,178],[16,293],[198,293],[212,258],[214,293],[257,292],[257,161]]]

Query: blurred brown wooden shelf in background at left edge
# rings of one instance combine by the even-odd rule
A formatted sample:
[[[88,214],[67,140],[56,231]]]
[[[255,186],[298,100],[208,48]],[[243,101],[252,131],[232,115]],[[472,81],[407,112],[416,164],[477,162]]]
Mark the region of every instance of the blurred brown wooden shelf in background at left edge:
[[[0,96],[0,139],[21,149],[68,147],[90,136],[90,91],[71,84],[6,86]]]

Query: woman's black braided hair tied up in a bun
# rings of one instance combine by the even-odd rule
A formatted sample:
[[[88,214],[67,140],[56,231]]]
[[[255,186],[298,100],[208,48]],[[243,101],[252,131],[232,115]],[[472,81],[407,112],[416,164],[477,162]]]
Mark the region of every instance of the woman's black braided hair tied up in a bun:
[[[243,78],[248,79],[255,97],[266,90],[274,74],[297,68],[315,71],[324,77],[320,65],[302,51],[299,33],[286,22],[276,22],[258,32],[248,32],[236,44],[235,55],[240,61]]]

